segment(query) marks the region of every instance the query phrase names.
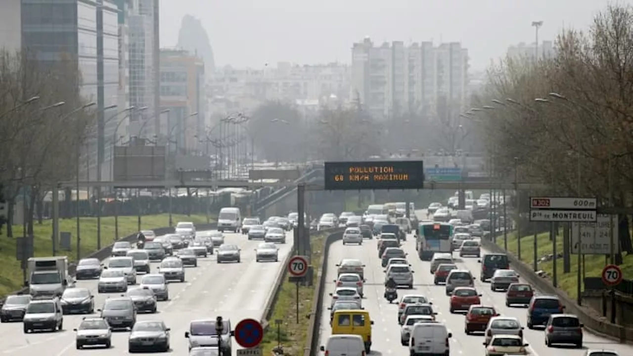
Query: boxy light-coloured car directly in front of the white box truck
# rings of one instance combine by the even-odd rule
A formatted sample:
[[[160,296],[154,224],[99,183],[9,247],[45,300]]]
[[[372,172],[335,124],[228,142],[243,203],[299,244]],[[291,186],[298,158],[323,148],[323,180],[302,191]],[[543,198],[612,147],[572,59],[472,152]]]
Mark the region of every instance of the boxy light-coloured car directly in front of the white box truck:
[[[63,330],[64,315],[59,298],[31,300],[22,327],[25,334],[35,330]]]

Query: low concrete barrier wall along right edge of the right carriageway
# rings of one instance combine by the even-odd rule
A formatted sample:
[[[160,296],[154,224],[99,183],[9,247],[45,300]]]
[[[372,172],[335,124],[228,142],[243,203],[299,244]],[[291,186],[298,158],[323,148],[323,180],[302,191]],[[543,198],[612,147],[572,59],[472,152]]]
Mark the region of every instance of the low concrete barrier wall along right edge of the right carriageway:
[[[580,307],[565,291],[556,288],[549,279],[539,277],[531,265],[525,264],[511,252],[503,250],[501,246],[496,245],[496,243],[482,239],[482,246],[491,252],[505,253],[508,255],[508,260],[510,260],[512,268],[516,270],[523,279],[543,293],[557,295],[561,302],[563,302],[563,305],[565,305],[565,311],[577,315],[580,322],[582,322],[587,329],[597,334],[610,336],[620,342],[633,341],[633,328],[612,324],[605,317],[599,315],[598,311]]]

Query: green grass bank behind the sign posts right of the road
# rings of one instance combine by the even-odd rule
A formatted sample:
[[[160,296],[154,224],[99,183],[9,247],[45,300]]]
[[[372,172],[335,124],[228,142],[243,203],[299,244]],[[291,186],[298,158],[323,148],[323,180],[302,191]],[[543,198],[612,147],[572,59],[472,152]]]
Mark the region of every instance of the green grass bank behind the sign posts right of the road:
[[[537,235],[536,239],[536,255],[539,260],[541,257],[553,253],[553,243],[549,241],[549,232]],[[503,248],[503,235],[497,237],[497,245]],[[517,256],[517,233],[508,232],[508,251]],[[556,238],[556,251],[563,251],[563,233],[562,230]],[[624,276],[633,276],[633,255],[622,255],[624,263],[620,265]],[[521,238],[521,260],[528,265],[534,264],[534,234],[523,236]],[[581,262],[582,263],[582,262]],[[552,276],[553,261],[539,262],[539,270],[548,272]],[[558,288],[563,289],[571,298],[577,296],[577,274],[578,274],[578,257],[572,255],[570,273],[563,273],[563,258],[556,260],[556,271],[558,273]],[[602,269],[605,267],[604,255],[586,255],[585,256],[585,277],[600,277]]]

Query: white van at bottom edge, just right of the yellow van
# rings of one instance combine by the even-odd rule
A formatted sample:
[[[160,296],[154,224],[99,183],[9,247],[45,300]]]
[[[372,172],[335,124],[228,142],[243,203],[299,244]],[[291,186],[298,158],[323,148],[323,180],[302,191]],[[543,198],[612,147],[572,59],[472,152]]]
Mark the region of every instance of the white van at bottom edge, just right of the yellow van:
[[[413,324],[409,339],[410,355],[449,355],[451,347],[448,339],[453,334],[441,322]]]

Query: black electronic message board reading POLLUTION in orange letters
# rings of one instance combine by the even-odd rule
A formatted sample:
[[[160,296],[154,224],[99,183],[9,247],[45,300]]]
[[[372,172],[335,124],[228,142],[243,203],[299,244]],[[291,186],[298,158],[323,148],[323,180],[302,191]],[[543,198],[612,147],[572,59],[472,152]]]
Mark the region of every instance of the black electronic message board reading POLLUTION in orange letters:
[[[325,190],[422,189],[422,161],[325,162]]]

